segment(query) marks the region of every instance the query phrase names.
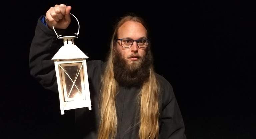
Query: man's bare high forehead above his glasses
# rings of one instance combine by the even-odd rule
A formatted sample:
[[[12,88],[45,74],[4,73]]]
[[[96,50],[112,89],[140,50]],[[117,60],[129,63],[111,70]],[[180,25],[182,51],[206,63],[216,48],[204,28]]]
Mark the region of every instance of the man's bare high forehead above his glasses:
[[[117,37],[132,38],[132,39],[147,37],[147,30],[139,22],[126,21],[123,25],[119,27],[117,31]]]

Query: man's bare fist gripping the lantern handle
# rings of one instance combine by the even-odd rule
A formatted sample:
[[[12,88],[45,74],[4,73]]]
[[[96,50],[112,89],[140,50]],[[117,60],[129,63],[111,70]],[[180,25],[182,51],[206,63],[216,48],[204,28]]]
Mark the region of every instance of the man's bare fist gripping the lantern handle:
[[[53,29],[53,25],[55,29],[66,29],[71,22],[70,10],[71,6],[66,6],[64,4],[51,7],[46,12],[45,16],[48,27]]]

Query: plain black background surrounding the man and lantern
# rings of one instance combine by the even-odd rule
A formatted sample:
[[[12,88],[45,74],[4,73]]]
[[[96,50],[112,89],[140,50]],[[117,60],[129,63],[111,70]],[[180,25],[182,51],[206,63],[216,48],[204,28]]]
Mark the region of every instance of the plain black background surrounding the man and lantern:
[[[61,3],[71,5],[80,21],[75,43],[88,60],[105,59],[118,17],[134,12],[146,20],[155,70],[174,88],[188,139],[256,138],[256,9],[241,1],[4,3],[3,138],[58,138],[73,126],[73,110],[61,115],[58,94],[43,89],[29,73],[37,20]]]

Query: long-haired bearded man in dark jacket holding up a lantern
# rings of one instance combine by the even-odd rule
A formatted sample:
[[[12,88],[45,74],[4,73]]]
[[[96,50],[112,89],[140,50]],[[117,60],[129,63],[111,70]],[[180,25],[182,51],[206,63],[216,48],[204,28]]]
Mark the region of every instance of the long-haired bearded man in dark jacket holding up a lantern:
[[[51,7],[38,20],[31,44],[31,75],[55,92],[57,82],[51,58],[62,42],[56,39],[51,26],[66,29],[71,22],[70,10],[64,4]],[[142,18],[125,16],[116,24],[107,61],[87,62],[92,110],[76,109],[79,137],[186,138],[172,86],[154,72],[150,47]]]

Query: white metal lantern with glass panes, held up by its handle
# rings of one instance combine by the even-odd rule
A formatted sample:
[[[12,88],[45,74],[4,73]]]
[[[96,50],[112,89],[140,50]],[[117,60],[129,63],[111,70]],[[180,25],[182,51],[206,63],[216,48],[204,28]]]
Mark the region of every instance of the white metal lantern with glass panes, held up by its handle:
[[[61,114],[64,114],[64,110],[82,107],[88,107],[91,110],[86,66],[88,57],[74,44],[74,39],[78,38],[79,34],[79,22],[78,32],[75,33],[77,36],[60,37],[62,35],[58,35],[54,26],[52,27],[58,39],[63,39],[64,43],[52,58],[58,83]]]

